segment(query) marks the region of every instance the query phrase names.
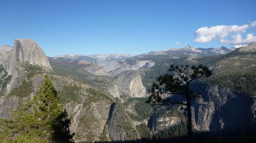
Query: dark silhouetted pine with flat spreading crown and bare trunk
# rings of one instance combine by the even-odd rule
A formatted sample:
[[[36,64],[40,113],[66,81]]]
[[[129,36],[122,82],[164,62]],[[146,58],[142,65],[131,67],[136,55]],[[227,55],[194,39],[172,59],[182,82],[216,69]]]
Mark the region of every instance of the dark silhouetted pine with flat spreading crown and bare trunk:
[[[192,115],[191,115],[191,100],[200,96],[200,93],[189,89],[189,84],[199,78],[206,78],[211,75],[211,71],[207,66],[188,65],[174,66],[169,68],[169,74],[160,75],[157,78],[157,83],[152,84],[151,94],[148,97],[146,103],[151,105],[181,105],[180,109],[187,111],[187,135],[189,142],[193,142],[192,132]],[[190,71],[193,71],[190,73]],[[169,95],[168,97],[162,96],[162,94]],[[181,95],[185,97],[185,103],[180,102],[173,97],[173,95]]]

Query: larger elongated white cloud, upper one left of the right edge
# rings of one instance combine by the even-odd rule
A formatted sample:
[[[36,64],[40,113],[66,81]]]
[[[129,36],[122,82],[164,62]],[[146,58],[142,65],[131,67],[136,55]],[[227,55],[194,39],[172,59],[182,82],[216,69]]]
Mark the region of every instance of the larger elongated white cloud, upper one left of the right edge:
[[[248,27],[248,24],[241,26],[217,25],[212,27],[201,27],[195,32],[195,35],[197,36],[195,42],[206,43],[212,40],[224,39],[232,34],[245,33]]]

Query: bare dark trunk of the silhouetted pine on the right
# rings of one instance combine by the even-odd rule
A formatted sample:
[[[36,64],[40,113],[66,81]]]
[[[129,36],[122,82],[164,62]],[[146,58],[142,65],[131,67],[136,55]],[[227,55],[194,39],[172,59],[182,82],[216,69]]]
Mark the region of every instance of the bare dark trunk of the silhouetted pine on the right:
[[[191,99],[189,95],[187,95],[187,137],[189,143],[193,143],[192,136],[192,114],[191,114]]]

